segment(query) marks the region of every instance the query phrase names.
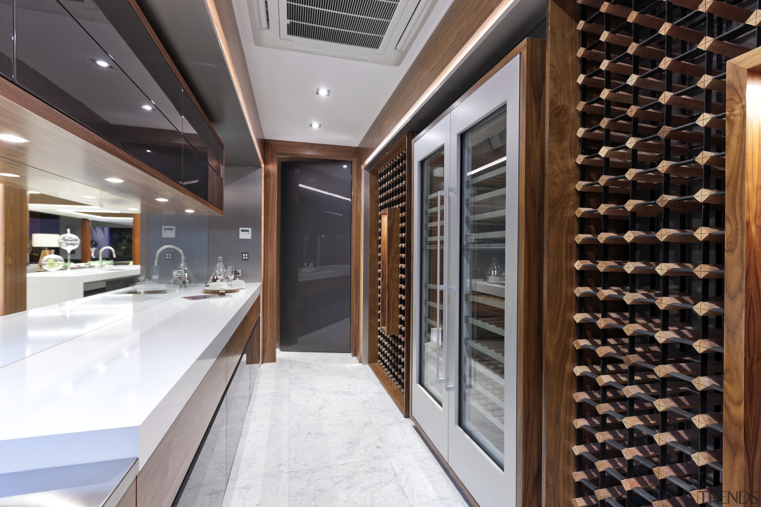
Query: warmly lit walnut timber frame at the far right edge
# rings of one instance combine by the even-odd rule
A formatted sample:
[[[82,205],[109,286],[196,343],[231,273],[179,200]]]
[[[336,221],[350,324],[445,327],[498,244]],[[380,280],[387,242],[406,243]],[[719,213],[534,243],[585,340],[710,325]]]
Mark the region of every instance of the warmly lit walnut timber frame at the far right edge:
[[[727,63],[727,140],[723,499],[734,505],[761,491],[761,49]]]

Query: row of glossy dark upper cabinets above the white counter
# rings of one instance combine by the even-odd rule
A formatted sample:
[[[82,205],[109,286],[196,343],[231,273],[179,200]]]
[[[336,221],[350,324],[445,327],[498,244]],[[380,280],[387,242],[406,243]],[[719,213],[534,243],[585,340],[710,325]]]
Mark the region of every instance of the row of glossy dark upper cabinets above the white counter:
[[[0,0],[8,78],[11,7]],[[15,0],[15,18],[18,86],[208,200],[209,166],[222,174],[224,147],[130,2]]]

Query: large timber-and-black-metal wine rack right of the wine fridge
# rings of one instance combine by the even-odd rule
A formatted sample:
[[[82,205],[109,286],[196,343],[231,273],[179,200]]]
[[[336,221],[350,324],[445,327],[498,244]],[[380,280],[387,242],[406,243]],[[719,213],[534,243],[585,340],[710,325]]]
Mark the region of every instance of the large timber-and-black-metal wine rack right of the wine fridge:
[[[572,503],[721,505],[724,68],[761,11],[579,3]]]

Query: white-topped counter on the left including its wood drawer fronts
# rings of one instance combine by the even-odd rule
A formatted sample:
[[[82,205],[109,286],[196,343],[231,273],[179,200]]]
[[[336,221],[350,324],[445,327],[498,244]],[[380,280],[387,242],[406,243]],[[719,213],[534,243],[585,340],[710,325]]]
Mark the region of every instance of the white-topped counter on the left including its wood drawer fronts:
[[[0,488],[4,476],[118,461],[137,476],[119,507],[170,505],[253,347],[260,288],[189,300],[202,287],[154,284],[0,317]],[[17,500],[0,490],[0,505]]]

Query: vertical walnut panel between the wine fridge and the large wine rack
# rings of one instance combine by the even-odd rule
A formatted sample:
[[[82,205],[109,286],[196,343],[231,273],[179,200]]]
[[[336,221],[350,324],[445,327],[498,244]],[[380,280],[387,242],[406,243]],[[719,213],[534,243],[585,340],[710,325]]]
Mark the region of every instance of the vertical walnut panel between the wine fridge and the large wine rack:
[[[543,505],[568,507],[574,483],[564,480],[574,470],[575,416],[572,369],[576,358],[571,341],[576,287],[572,269],[576,260],[578,180],[578,43],[574,33],[578,4],[574,0],[547,2],[546,46],[546,150],[544,216],[544,421],[542,493]]]

